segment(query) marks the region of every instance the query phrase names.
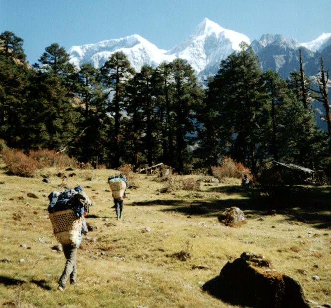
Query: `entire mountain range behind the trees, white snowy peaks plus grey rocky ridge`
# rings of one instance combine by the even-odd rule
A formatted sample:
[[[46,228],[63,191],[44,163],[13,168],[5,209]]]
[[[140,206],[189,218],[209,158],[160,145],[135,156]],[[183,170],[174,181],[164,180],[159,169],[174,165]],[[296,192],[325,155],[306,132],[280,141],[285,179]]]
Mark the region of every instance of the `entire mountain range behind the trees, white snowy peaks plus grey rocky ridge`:
[[[221,60],[233,51],[240,50],[239,44],[242,41],[250,44],[246,35],[224,29],[205,18],[186,40],[169,51],[159,49],[134,34],[96,44],[73,46],[68,53],[70,61],[77,67],[84,62],[101,67],[113,52],[122,51],[136,71],[140,71],[144,64],[157,67],[163,61],[170,62],[180,57],[192,66],[199,80],[204,80],[206,76],[217,73]],[[299,47],[302,47],[303,58],[309,68],[306,74],[310,76],[318,72],[316,53],[325,54],[330,45],[331,33],[323,33],[316,40],[307,43],[289,40],[280,34],[264,34],[259,41],[254,40],[251,47],[258,55],[263,70],[272,68],[281,77],[287,78],[290,71],[299,69]]]

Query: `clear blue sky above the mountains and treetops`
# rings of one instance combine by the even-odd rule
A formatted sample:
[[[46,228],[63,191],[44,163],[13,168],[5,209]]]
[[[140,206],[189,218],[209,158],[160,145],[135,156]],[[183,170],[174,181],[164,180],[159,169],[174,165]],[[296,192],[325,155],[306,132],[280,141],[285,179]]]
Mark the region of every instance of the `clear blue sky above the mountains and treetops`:
[[[24,40],[31,64],[52,43],[68,50],[139,34],[169,50],[208,18],[245,34],[309,42],[331,33],[331,0],[0,0],[0,33]]]

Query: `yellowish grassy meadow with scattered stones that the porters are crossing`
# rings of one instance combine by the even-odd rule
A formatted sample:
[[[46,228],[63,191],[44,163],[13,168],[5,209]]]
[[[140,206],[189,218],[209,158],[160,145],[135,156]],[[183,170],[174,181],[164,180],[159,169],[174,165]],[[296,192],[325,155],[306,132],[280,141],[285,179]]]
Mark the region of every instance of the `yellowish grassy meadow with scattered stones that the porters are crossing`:
[[[243,252],[272,260],[299,281],[308,300],[331,303],[331,188],[312,189],[310,206],[276,215],[267,202],[254,203],[247,190],[200,182],[200,191],[168,189],[156,175],[131,174],[123,218],[116,220],[107,178],[115,170],[64,171],[42,176],[9,176],[0,168],[0,305],[2,307],[235,307],[213,298],[201,285],[219,275]],[[64,172],[65,178],[57,177]],[[69,176],[69,174],[73,176]],[[199,175],[173,176],[207,180]],[[64,268],[48,217],[47,196],[81,185],[95,205],[86,218],[94,228],[78,250],[78,284],[57,291]],[[166,191],[166,192],[164,192]],[[29,197],[34,194],[38,198]],[[306,200],[307,202],[307,200]],[[219,223],[218,215],[238,206],[247,218],[241,228]]]

